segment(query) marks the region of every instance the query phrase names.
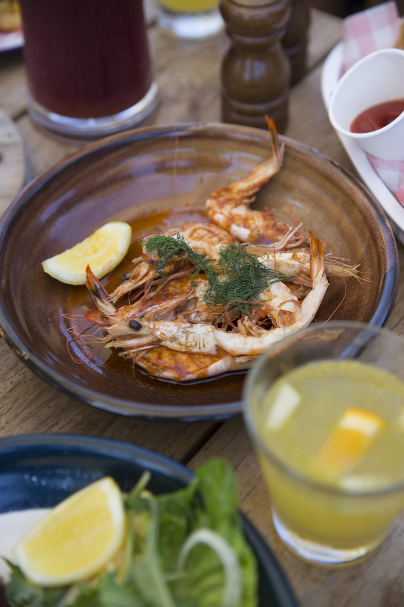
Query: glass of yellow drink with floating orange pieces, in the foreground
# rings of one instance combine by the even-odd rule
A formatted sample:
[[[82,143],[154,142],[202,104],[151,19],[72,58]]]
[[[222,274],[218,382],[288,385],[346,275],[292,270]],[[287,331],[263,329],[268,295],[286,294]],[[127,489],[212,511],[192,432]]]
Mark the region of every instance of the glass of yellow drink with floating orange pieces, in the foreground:
[[[319,565],[371,554],[404,506],[404,339],[348,322],[287,337],[251,371],[245,420],[285,544]]]

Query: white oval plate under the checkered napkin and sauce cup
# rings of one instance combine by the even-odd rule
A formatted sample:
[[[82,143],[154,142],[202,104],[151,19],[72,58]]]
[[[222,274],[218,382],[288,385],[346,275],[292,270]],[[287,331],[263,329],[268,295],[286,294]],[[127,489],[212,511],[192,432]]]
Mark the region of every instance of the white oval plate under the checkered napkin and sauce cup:
[[[342,75],[342,64],[343,42],[339,42],[326,58],[321,74],[321,93],[327,110],[333,90]],[[346,137],[346,135],[340,135],[339,133],[337,135],[363,183],[369,188],[386,213],[392,231],[404,244],[404,207],[400,205],[397,198],[391,194],[385,183],[380,179],[359,144]]]

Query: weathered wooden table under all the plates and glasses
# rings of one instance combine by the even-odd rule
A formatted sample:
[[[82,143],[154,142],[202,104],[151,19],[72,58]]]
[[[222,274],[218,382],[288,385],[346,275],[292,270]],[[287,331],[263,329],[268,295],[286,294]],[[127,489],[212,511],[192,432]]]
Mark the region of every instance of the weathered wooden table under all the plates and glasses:
[[[350,171],[348,157],[334,134],[320,97],[320,72],[329,50],[339,41],[342,22],[313,10],[309,71],[291,91],[286,135],[319,149]],[[220,121],[220,59],[225,33],[204,42],[165,38],[153,15],[151,52],[161,90],[155,124]],[[31,177],[75,149],[45,137],[28,118],[27,86],[21,52],[0,57],[0,108],[15,120],[24,141]],[[1,185],[0,185],[1,188]],[[11,201],[10,201],[11,202]],[[404,249],[399,247],[400,262]],[[387,327],[404,328],[404,284]],[[326,571],[294,558],[274,532],[270,499],[243,421],[222,423],[148,422],[94,409],[51,388],[0,342],[0,437],[24,433],[70,432],[136,443],[177,459],[191,468],[211,456],[224,456],[237,471],[242,510],[268,541],[302,607],[399,607],[404,604],[404,515],[396,521],[379,553],[352,569]]]

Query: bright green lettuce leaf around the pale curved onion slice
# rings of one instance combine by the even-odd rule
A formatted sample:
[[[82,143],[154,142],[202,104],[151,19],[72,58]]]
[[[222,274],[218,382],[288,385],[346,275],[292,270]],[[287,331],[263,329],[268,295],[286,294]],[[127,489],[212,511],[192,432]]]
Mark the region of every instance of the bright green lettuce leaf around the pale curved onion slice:
[[[236,475],[224,459],[211,459],[196,472],[183,490],[158,495],[161,520],[160,546],[164,571],[173,571],[180,547],[195,529],[208,527],[222,535],[240,561],[243,575],[242,607],[257,605],[257,566],[244,538],[238,512]],[[164,555],[164,556],[163,556]],[[178,607],[220,607],[224,570],[214,552],[197,545],[187,560],[186,577],[170,583]]]

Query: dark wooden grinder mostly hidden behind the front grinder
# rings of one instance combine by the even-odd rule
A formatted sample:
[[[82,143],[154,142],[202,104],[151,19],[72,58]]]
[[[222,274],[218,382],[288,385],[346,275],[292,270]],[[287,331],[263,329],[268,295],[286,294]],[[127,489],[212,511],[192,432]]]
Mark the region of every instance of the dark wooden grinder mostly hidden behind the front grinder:
[[[285,36],[282,44],[290,59],[292,68],[292,80],[290,86],[294,86],[303,80],[306,73],[306,55],[308,28],[310,24],[310,12],[307,0],[290,0],[291,14],[286,26]]]

